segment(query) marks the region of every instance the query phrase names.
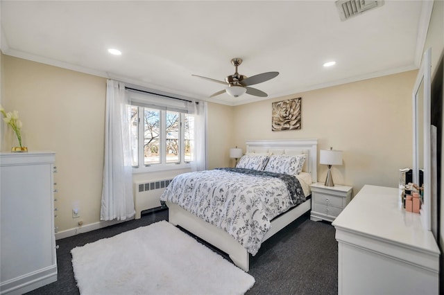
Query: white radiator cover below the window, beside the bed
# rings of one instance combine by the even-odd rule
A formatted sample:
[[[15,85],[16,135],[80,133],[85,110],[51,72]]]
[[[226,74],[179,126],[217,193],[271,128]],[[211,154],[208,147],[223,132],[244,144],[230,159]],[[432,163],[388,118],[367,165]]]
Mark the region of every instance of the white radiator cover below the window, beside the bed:
[[[162,206],[160,204],[160,195],[162,195],[170,181],[171,179],[160,179],[149,182],[139,181],[134,184],[135,219],[141,217],[142,211]]]

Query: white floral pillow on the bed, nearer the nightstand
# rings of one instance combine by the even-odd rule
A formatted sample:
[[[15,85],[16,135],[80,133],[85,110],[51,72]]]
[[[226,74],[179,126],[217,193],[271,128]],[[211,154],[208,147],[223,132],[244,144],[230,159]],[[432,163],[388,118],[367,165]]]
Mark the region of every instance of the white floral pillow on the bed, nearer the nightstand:
[[[264,171],[296,176],[302,171],[304,162],[305,154],[298,154],[297,156],[271,155]]]

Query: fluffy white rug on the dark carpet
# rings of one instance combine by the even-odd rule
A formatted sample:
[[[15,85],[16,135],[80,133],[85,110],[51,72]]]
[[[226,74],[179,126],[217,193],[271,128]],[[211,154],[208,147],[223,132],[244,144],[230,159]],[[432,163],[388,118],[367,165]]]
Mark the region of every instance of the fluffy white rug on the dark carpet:
[[[80,294],[244,294],[255,278],[169,222],[71,250]]]

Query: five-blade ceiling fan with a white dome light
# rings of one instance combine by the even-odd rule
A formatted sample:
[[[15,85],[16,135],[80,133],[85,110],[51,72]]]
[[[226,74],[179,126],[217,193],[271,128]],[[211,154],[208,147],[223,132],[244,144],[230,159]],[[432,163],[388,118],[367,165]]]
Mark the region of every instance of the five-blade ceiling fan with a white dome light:
[[[206,80],[210,80],[213,82],[221,83],[228,85],[226,89],[223,89],[221,91],[217,91],[216,93],[212,94],[210,98],[214,96],[219,96],[219,94],[224,93],[225,91],[230,94],[230,96],[234,96],[235,98],[241,96],[244,93],[248,93],[252,96],[259,96],[262,98],[267,97],[267,93],[264,91],[260,91],[259,89],[255,89],[253,87],[249,87],[250,85],[259,84],[268,80],[271,80],[275,78],[277,75],[279,75],[279,72],[266,72],[266,73],[260,73],[257,75],[252,75],[251,77],[247,77],[245,75],[241,75],[237,73],[237,67],[242,63],[242,59],[239,57],[235,57],[231,60],[231,64],[236,67],[236,72],[232,75],[228,75],[225,78],[224,81],[215,80],[212,78],[203,77],[201,75],[194,75],[198,78],[203,78]]]

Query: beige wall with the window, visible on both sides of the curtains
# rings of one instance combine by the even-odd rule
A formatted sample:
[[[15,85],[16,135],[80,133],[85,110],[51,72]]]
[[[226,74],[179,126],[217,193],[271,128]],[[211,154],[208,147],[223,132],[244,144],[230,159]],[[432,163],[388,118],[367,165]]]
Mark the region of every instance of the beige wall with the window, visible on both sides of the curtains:
[[[0,54],[1,105],[19,111],[24,144],[32,151],[56,152],[56,207],[59,231],[100,222],[105,134],[106,79]],[[232,107],[208,103],[209,168],[230,165]],[[1,152],[14,138],[1,120]],[[187,172],[180,170],[179,172]],[[178,172],[134,175],[171,177]],[[80,218],[71,210],[78,207]]]

